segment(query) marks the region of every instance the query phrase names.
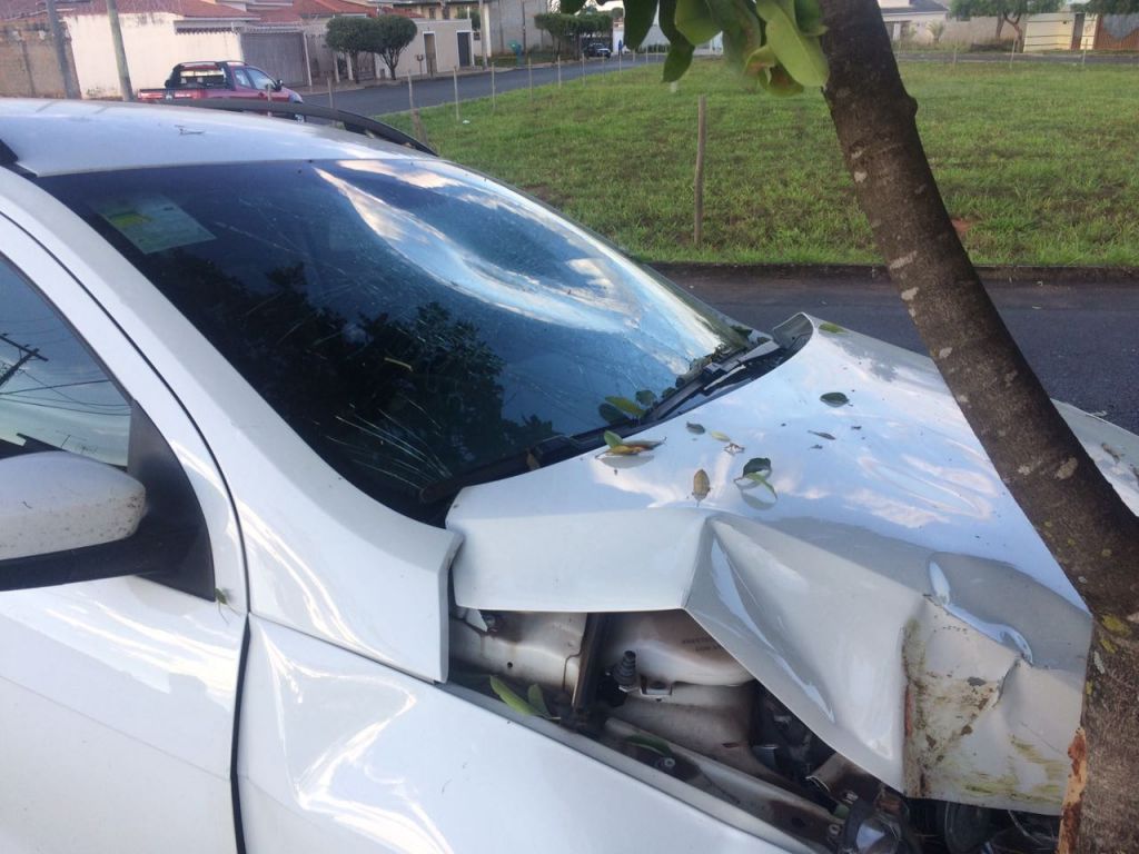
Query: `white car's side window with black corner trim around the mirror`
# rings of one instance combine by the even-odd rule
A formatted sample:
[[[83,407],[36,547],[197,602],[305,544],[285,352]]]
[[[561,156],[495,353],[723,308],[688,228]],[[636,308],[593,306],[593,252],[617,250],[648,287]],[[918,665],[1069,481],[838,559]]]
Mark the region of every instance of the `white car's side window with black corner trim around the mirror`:
[[[0,561],[0,590],[145,575],[213,599],[205,518],[174,452],[56,309],[0,256],[0,461],[54,450],[124,469],[146,490],[145,516],[133,534],[90,553]]]

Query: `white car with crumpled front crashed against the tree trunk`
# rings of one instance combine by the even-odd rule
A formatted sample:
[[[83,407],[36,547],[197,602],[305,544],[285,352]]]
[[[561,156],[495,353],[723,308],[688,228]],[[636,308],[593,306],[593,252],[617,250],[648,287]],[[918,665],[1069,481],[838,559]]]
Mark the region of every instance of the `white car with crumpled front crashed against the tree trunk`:
[[[0,142],[5,854],[1054,832],[1089,618],[926,359],[329,128]]]

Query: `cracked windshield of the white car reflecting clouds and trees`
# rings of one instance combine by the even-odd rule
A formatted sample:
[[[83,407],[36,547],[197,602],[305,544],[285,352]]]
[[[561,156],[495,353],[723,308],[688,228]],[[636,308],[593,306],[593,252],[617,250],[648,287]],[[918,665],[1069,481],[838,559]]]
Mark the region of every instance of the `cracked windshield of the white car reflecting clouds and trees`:
[[[539,465],[530,449],[554,437],[600,445],[600,430],[745,344],[542,205],[434,161],[41,183],[325,460],[413,515],[448,484]]]

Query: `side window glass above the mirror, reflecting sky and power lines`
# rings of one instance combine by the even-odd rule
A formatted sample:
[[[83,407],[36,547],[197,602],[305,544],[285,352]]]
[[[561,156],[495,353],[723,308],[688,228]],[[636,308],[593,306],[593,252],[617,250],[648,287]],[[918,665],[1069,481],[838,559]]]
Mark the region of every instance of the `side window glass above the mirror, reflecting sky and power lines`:
[[[0,256],[0,457],[60,449],[125,468],[130,426],[106,371]]]

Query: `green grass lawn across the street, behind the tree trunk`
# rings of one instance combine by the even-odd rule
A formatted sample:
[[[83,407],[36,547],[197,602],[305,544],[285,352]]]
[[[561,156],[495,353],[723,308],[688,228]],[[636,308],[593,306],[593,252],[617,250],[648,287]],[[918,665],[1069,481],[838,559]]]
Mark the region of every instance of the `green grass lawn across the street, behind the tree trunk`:
[[[903,64],[950,214],[984,264],[1139,265],[1139,68]],[[819,93],[755,93],[719,61],[424,110],[440,154],[652,261],[861,263],[877,255]],[[696,105],[708,99],[704,245]],[[408,115],[387,116],[410,130]]]

